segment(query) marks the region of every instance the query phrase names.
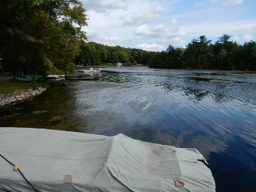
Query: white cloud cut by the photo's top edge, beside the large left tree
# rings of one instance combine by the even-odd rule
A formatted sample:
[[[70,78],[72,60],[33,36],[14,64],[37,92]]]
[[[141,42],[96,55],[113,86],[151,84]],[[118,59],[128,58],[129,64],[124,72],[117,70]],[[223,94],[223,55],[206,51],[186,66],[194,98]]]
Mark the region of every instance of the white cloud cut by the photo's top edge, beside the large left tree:
[[[87,10],[106,12],[106,10],[127,9],[127,3],[123,0],[82,0]]]

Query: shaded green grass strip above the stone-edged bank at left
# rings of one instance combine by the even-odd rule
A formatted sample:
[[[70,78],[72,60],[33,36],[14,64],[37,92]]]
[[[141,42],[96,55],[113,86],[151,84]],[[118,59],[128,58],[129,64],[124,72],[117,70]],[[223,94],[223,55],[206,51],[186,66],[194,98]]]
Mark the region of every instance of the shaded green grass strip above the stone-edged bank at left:
[[[30,82],[20,81],[17,79],[4,80],[0,79],[0,94],[10,93],[19,89],[29,89]]]

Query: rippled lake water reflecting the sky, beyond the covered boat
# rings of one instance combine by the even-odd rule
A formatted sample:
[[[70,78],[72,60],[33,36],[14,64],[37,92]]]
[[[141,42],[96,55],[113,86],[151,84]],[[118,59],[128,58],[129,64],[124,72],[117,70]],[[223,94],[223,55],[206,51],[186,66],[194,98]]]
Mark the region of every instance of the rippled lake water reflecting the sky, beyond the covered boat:
[[[0,108],[0,126],[123,133],[198,149],[216,191],[256,191],[256,73],[144,67],[76,72],[30,101]]]

